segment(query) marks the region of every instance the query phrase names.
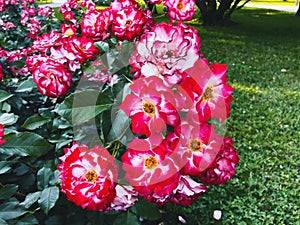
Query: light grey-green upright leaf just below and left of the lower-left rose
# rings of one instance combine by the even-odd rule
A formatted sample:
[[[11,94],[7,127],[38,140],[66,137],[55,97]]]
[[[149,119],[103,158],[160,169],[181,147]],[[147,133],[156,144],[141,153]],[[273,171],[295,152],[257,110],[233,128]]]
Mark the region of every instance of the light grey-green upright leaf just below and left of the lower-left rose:
[[[59,188],[56,186],[48,187],[42,191],[41,197],[38,201],[43,211],[48,214],[50,209],[55,206],[59,198]]]

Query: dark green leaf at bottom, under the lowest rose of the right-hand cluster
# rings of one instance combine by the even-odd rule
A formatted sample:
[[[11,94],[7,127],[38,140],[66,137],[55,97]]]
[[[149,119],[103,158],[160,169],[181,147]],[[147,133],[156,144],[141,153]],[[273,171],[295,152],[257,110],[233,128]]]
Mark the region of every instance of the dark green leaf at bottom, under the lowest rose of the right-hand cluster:
[[[135,204],[138,215],[147,220],[157,220],[161,218],[161,213],[159,212],[156,205],[147,202],[145,199],[140,198]]]

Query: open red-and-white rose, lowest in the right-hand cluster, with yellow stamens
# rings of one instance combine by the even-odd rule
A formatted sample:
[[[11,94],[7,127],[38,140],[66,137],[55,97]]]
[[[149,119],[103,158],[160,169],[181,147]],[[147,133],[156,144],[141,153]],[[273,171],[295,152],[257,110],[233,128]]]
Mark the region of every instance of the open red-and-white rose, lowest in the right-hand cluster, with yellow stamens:
[[[149,196],[163,198],[178,186],[179,168],[163,144],[154,140],[134,139],[122,156],[125,179],[148,201]]]

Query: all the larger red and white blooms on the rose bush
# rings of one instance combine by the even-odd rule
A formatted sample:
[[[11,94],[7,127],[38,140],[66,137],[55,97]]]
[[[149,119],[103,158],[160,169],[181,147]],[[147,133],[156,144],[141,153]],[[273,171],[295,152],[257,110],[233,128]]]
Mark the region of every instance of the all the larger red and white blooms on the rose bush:
[[[156,24],[134,0],[115,0],[106,9],[92,0],[69,0],[59,9],[64,18],[59,30],[42,35],[37,35],[37,11],[29,6],[21,19],[33,45],[0,51],[7,62],[26,58],[18,74],[30,73],[41,94],[58,98],[68,94],[74,78],[111,88],[121,79],[112,65],[126,64],[122,44],[134,42],[129,75],[122,74],[131,93],[119,105],[134,138],[113,150],[110,144],[120,137],[102,143],[106,148],[74,142],[60,157],[61,191],[84,209],[125,211],[138,196],[158,206],[187,206],[207,191],[206,184],[224,185],[235,173],[239,158],[233,141],[211,123],[230,116],[233,88],[227,84],[226,65],[203,58],[198,32],[183,23],[195,13],[194,0],[166,0],[164,5],[170,24]],[[38,14],[51,17],[53,11],[44,8]],[[101,46],[115,49],[101,58]]]

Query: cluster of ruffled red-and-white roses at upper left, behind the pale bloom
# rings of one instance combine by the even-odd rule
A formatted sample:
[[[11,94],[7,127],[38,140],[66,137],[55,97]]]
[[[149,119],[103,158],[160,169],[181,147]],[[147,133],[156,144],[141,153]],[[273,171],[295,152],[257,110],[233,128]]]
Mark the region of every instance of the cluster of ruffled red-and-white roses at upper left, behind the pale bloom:
[[[69,22],[61,25],[60,32],[52,30],[37,37],[32,50],[38,54],[27,57],[27,68],[38,89],[49,97],[65,95],[72,86],[71,73],[81,69],[83,63],[95,60],[94,56],[99,54],[96,41],[105,41],[111,35],[120,41],[132,41],[154,23],[151,13],[135,1],[115,1],[103,10],[97,9],[92,1],[82,1],[80,5],[87,7],[80,25],[75,18],[79,10],[77,1],[67,1],[60,12]],[[80,34],[76,34],[79,26]],[[105,71],[107,68],[102,67],[82,77],[111,85],[118,81],[117,75],[109,76]]]

